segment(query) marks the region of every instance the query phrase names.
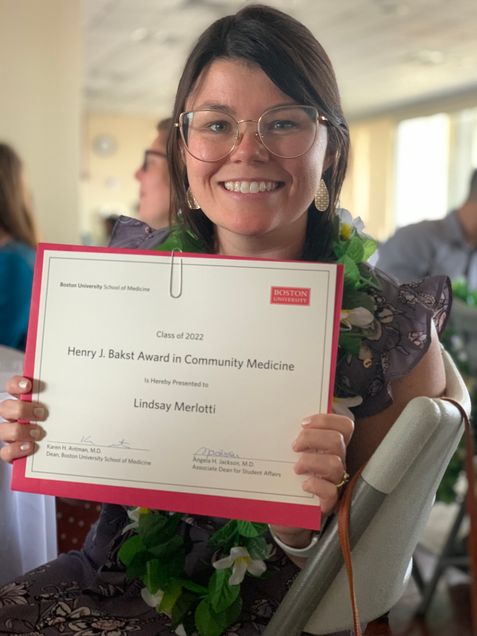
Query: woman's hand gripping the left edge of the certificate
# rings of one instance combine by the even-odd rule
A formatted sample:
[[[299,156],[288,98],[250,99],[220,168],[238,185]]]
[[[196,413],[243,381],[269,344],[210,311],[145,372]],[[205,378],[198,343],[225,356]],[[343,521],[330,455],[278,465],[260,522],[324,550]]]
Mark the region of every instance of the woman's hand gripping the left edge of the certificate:
[[[6,390],[14,398],[30,393],[31,381],[20,375],[11,377]],[[0,402],[0,417],[7,420],[0,422],[0,459],[11,462],[18,457],[31,455],[37,449],[38,440],[45,436],[44,429],[38,424],[48,416],[47,410],[39,402],[26,402],[20,399]],[[19,420],[28,424],[20,424]],[[2,447],[1,444],[5,445]]]

